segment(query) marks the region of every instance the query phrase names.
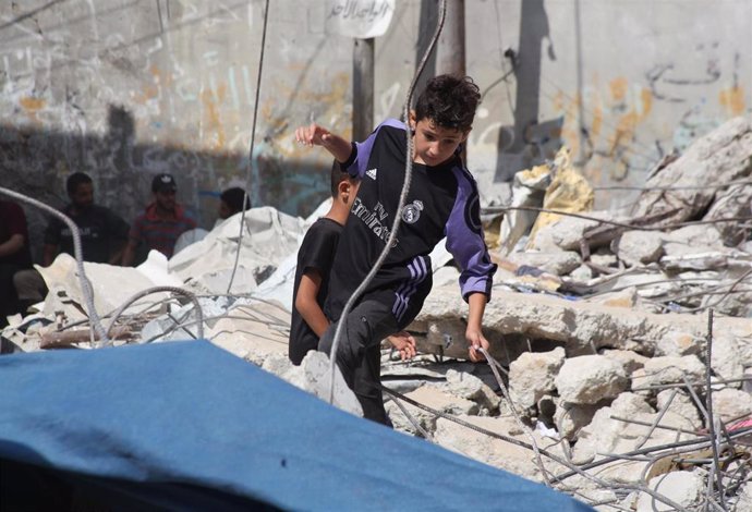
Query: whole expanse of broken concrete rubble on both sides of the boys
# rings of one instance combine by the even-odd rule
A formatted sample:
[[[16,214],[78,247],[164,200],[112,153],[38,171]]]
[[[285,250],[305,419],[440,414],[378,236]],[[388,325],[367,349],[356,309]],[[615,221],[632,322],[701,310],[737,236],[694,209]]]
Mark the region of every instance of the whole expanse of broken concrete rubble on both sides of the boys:
[[[505,242],[493,249],[488,364],[465,361],[459,273],[437,247],[434,290],[408,328],[421,354],[402,362],[383,351],[395,428],[598,510],[752,510],[752,123],[732,120],[666,159],[631,211],[589,211],[592,190],[566,151],[533,171],[517,180],[531,190],[505,210]],[[163,342],[196,338],[201,326],[326,400],[327,357],[287,358],[294,255],[316,217],[252,209],[242,239],[235,216],[170,261],[86,264],[109,341],[88,337],[73,261],[60,256],[39,269],[50,290],[39,313],[14,319],[3,343]],[[195,302],[159,291],[113,318],[158,287]],[[62,336],[74,330],[87,336]],[[360,414],[340,376],[335,404]]]

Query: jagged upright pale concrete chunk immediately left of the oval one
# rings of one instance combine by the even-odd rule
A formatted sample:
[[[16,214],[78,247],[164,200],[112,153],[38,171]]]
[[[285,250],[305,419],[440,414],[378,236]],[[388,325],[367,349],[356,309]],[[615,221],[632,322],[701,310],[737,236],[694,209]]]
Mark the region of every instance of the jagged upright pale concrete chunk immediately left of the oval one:
[[[509,395],[518,406],[533,407],[554,391],[554,378],[565,364],[561,346],[550,352],[525,352],[509,365]]]

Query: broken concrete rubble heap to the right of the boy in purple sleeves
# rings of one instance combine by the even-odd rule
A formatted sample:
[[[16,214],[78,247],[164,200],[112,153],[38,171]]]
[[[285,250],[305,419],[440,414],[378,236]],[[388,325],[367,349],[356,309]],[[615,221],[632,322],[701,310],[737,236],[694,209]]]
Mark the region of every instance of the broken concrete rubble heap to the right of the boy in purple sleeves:
[[[554,183],[561,169],[566,154],[524,178],[547,190],[546,171]],[[752,123],[732,120],[662,162],[631,211],[570,202],[551,219],[544,195],[537,208],[522,196],[501,223],[512,240],[494,253],[484,316],[508,373],[474,368],[510,400],[468,400],[446,364],[422,362],[415,375],[434,377],[405,397],[436,412],[390,404],[396,427],[598,510],[752,510]],[[456,287],[432,292],[409,328],[423,352],[462,357],[465,307]]]

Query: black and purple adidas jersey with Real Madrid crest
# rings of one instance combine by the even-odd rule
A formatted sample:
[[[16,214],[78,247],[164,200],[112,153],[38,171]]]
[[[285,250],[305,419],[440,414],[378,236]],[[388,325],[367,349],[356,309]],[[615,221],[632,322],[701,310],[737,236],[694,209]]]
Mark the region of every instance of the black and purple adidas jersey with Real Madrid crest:
[[[404,181],[405,126],[390,119],[354,143],[342,168],[361,179],[335,255],[325,312],[336,320],[384,249]],[[428,255],[441,239],[460,268],[462,296],[486,294],[496,265],[483,240],[475,180],[456,155],[441,166],[413,163],[402,222],[389,255],[364,293],[388,301],[400,328],[417,315],[430,291]]]

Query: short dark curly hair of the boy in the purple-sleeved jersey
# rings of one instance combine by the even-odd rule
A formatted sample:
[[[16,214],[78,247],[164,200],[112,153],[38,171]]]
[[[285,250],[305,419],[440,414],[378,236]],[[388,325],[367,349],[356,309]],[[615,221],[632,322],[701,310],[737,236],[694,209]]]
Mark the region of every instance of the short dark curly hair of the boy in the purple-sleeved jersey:
[[[415,120],[429,119],[437,126],[466,133],[473,127],[481,92],[470,76],[433,77],[415,103]]]

